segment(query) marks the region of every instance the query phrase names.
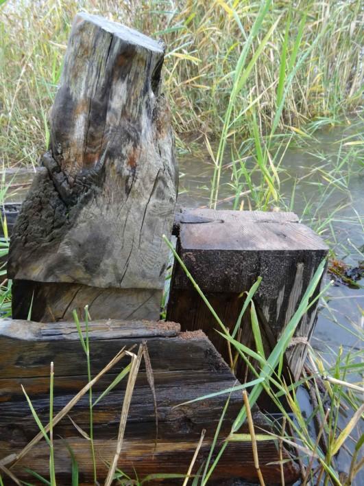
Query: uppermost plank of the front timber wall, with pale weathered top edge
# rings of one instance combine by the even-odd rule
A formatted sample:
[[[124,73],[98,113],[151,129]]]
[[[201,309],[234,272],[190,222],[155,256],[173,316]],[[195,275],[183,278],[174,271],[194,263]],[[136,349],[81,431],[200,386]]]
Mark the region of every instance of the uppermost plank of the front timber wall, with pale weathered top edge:
[[[31,337],[38,336],[36,340],[29,340],[29,337],[21,339],[22,321],[17,321],[14,326],[18,329],[16,338],[9,335],[2,335],[1,329],[8,329],[10,323],[7,320],[0,321],[0,378],[31,378],[35,376],[47,377],[49,375],[49,365],[54,362],[55,376],[78,376],[86,375],[86,356],[82,345],[77,340],[77,331],[74,323],[56,323],[51,324],[53,329],[62,329],[64,338],[60,339],[58,334],[51,331],[50,335],[41,336],[41,331],[35,331],[34,328],[45,329],[44,323],[33,323],[29,329],[33,329]],[[24,336],[27,336],[27,321],[24,323]],[[219,370],[226,369],[227,365],[217,353],[216,349],[206,338],[203,332],[186,332],[175,336],[166,337],[171,332],[175,334],[177,327],[173,323],[171,331],[167,329],[170,324],[154,323],[162,336],[153,336],[151,323],[141,321],[141,326],[145,326],[147,332],[143,337],[120,336],[109,339],[109,327],[111,321],[108,321],[105,333],[93,336],[90,343],[90,362],[91,373],[96,375],[106,367],[113,356],[121,348],[138,346],[147,338],[147,332],[151,334],[147,338],[147,347],[151,360],[151,366],[154,371],[173,371],[173,370]],[[119,322],[118,325],[122,326]],[[127,324],[130,326],[130,323]],[[93,323],[90,323],[90,328]],[[7,331],[9,334],[9,330]],[[43,330],[44,332],[44,330]],[[139,331],[141,334],[142,331]],[[47,334],[47,333],[46,333]],[[56,337],[56,338],[55,338]],[[119,372],[129,358],[122,358],[114,367],[114,373]]]

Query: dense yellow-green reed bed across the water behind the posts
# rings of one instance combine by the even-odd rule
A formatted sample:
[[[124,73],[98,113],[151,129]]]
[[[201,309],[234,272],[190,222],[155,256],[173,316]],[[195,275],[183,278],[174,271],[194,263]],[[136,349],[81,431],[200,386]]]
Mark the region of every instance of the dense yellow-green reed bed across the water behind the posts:
[[[228,140],[236,134],[254,137],[256,125],[263,136],[273,126],[297,132],[312,120],[317,126],[332,124],[363,101],[361,0],[2,3],[0,144],[5,165],[36,164],[45,149],[47,113],[66,39],[73,16],[83,9],[165,41],[165,90],[178,135],[219,138],[233,91]],[[247,46],[244,80],[236,86],[236,66]]]

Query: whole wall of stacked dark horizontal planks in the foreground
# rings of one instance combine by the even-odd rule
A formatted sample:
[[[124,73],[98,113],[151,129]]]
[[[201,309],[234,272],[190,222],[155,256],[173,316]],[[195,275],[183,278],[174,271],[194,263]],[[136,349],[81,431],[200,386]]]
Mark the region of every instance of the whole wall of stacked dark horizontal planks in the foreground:
[[[82,323],[84,329],[84,323]],[[181,333],[175,323],[145,321],[99,321],[89,325],[91,373],[95,376],[124,346],[147,343],[158,413],[158,437],[153,394],[149,389],[147,371],[141,367],[132,397],[125,442],[119,467],[127,474],[143,478],[153,473],[185,474],[202,429],[206,436],[197,456],[193,473],[206,459],[228,395],[220,395],[177,408],[174,406],[208,393],[230,388],[236,379],[228,366],[202,332]],[[8,454],[18,454],[38,433],[29,406],[21,391],[21,384],[43,424],[49,419],[49,364],[54,362],[54,413],[66,405],[87,383],[86,358],[74,323],[34,323],[0,321],[0,461]],[[135,350],[137,347],[135,348]],[[130,358],[122,358],[93,387],[97,399],[117,376]],[[93,424],[97,474],[101,482],[107,473],[116,448],[126,379],[122,380],[93,408]],[[241,391],[232,393],[223,420],[218,444],[226,439],[232,421],[242,406]],[[69,412],[77,426],[88,432],[88,395]],[[265,417],[257,407],[253,410],[256,432],[267,430]],[[249,433],[247,424],[242,433]],[[58,484],[71,484],[71,458],[64,440],[71,445],[80,467],[80,481],[88,483],[93,477],[90,443],[77,432],[69,417],[56,426],[55,461]],[[217,451],[219,445],[217,445]],[[276,441],[258,442],[260,469],[269,484],[280,483],[279,452]],[[294,481],[298,469],[283,451],[282,465],[287,483]],[[215,454],[214,454],[215,457]],[[38,443],[17,463],[7,467],[19,478],[31,480],[23,467],[47,476],[49,447]],[[256,481],[256,470],[250,442],[230,443],[215,471],[215,479],[245,478]],[[172,481],[169,482],[172,484]],[[178,481],[177,484],[182,484]]]

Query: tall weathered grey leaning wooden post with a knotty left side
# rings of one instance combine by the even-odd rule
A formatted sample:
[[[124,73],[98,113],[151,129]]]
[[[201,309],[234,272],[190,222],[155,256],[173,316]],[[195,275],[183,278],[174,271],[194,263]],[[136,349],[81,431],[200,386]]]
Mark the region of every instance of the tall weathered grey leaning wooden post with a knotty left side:
[[[75,17],[49,151],[12,233],[14,318],[88,304],[93,319],[158,319],[178,180],[163,58],[139,32]]]

